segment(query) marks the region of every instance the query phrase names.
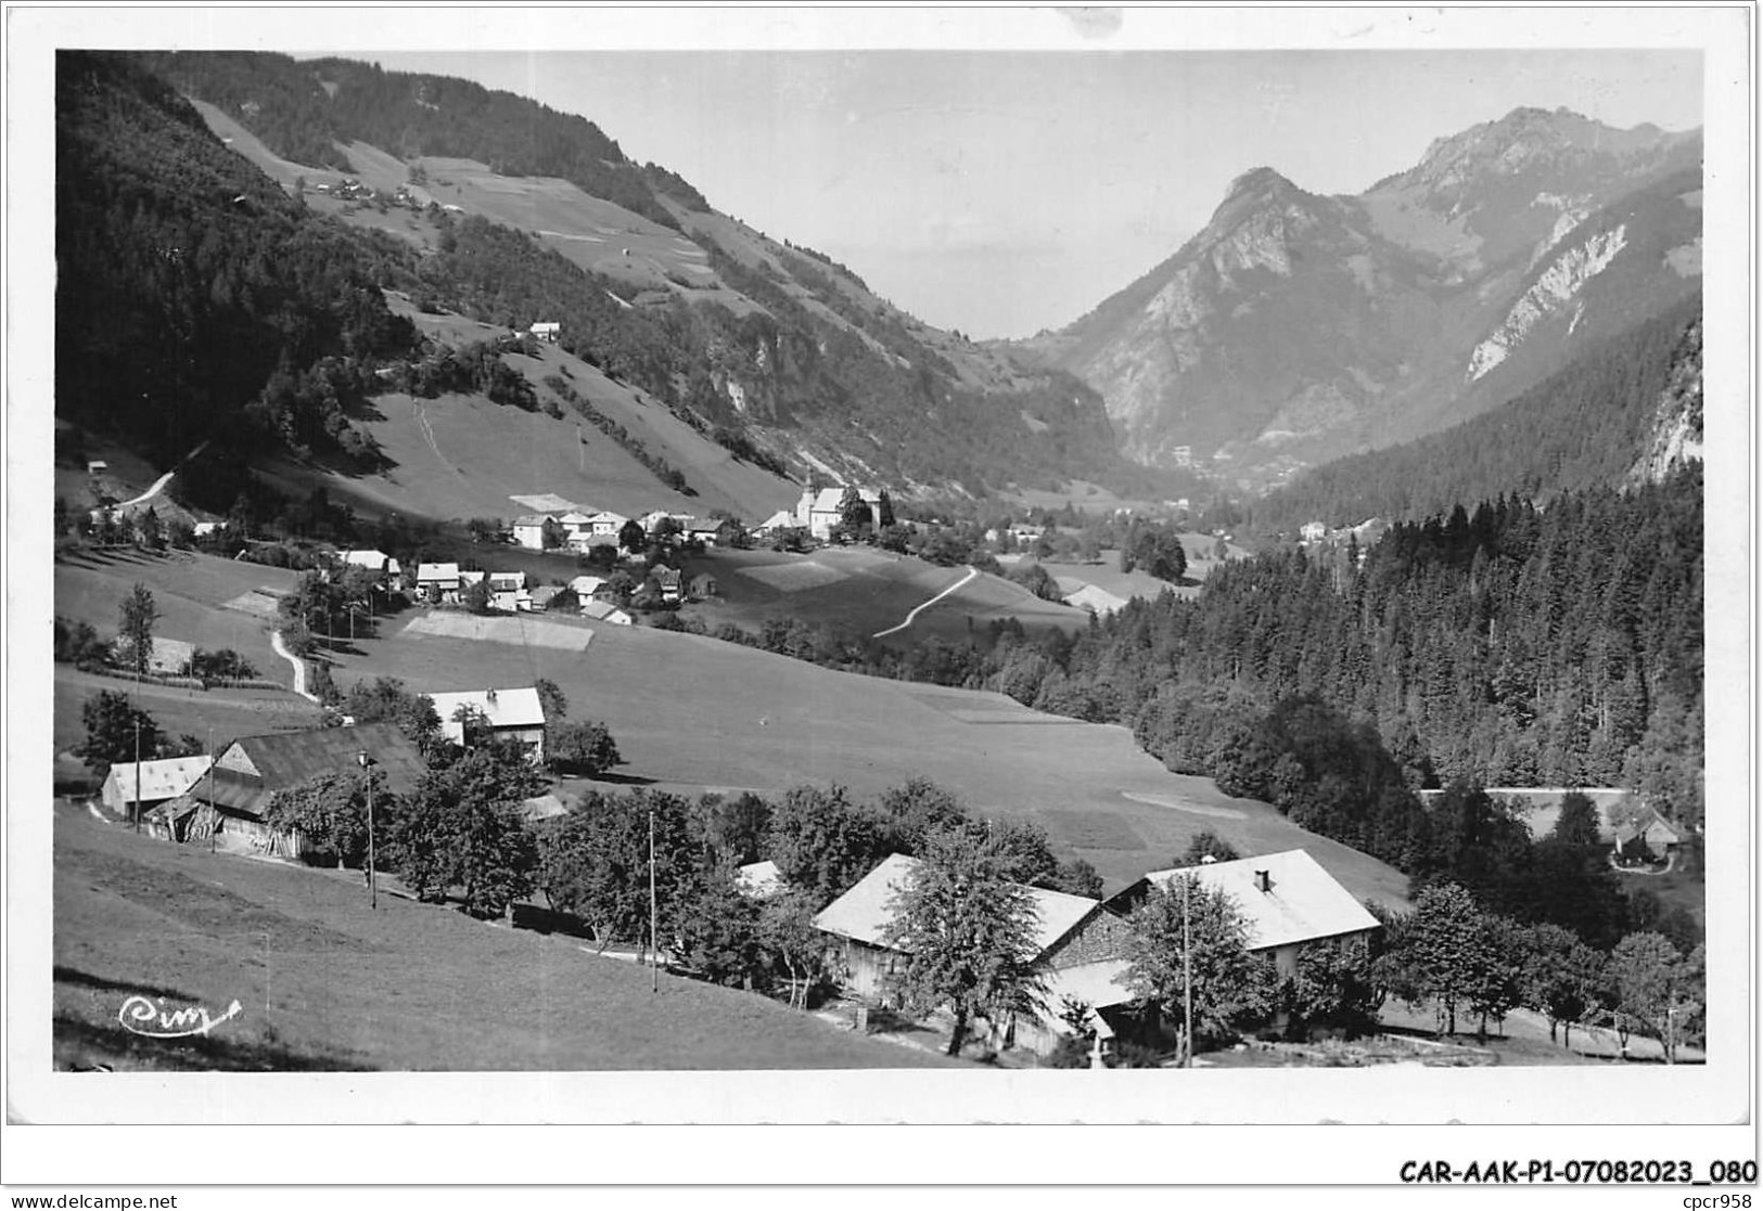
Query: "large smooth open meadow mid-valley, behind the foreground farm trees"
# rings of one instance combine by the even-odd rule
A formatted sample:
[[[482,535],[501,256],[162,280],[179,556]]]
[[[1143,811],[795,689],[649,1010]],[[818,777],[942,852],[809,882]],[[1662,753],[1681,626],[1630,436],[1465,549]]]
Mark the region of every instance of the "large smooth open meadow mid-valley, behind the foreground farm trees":
[[[1222,795],[1211,779],[1171,774],[1127,728],[647,628],[582,626],[573,650],[524,642],[517,619],[501,633],[508,642],[388,629],[342,659],[337,682],[395,675],[435,693],[550,677],[573,717],[610,726],[622,777],[665,790],[777,795],[841,783],[871,797],[924,776],[980,814],[1044,825],[1056,850],[1088,858],[1109,888],[1167,867],[1211,830],[1243,853],[1306,848],[1354,895],[1405,903],[1407,880],[1393,867],[1266,804]]]

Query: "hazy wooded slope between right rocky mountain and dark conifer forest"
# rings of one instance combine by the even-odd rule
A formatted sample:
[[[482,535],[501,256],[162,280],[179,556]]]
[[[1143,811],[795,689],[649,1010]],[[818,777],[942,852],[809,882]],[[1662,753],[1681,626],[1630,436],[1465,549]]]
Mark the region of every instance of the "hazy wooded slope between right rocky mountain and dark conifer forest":
[[[1257,502],[1252,525],[1292,534],[1312,520],[1419,520],[1460,501],[1620,485],[1648,448],[1661,393],[1700,361],[1701,300],[1691,298],[1456,428],[1306,471]]]

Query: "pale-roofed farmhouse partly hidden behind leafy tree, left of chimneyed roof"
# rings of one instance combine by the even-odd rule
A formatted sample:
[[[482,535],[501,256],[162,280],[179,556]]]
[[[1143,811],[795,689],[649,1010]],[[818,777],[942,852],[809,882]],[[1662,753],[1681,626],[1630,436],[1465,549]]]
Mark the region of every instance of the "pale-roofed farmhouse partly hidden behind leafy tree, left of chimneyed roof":
[[[892,920],[890,904],[906,888],[917,866],[919,860],[913,857],[889,855],[852,890],[815,915],[815,927],[829,936],[844,970],[843,985],[853,996],[882,1005],[894,1001],[892,980],[904,962],[904,954],[889,947],[883,936]],[[1035,899],[1033,966],[1049,982],[1065,970],[1121,962],[1127,922],[1102,901],[1044,887],[1030,887],[1028,892]],[[1047,998],[1040,1014],[996,1024],[994,1042],[1003,1047],[1026,1047],[1037,1054],[1053,1051],[1060,1038],[1070,1033],[1060,1021],[1060,1008],[1058,998]]]

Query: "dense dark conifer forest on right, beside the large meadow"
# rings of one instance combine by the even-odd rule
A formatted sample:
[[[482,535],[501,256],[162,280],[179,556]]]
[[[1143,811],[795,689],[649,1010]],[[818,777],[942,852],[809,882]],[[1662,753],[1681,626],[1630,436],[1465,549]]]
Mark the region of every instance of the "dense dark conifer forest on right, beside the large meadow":
[[[1276,703],[1315,696],[1373,724],[1410,781],[1631,784],[1700,823],[1698,464],[1546,513],[1458,506],[1391,529],[1358,571],[1352,557],[1268,553],[1192,603],[1134,603],[1037,698],[1132,721],[1174,769],[1239,793],[1285,793],[1276,762],[1245,769],[1246,740]]]

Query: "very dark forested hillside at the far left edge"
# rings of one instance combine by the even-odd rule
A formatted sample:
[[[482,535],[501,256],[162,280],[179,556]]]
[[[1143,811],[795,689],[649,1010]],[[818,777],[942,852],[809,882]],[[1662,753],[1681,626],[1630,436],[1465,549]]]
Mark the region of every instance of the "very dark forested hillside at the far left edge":
[[[56,56],[56,414],[169,465],[261,428],[368,457],[346,409],[416,333],[383,257],[229,153],[122,56]],[[272,372],[291,390],[259,398]]]

